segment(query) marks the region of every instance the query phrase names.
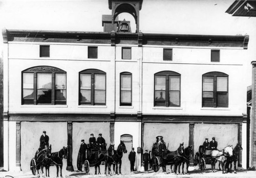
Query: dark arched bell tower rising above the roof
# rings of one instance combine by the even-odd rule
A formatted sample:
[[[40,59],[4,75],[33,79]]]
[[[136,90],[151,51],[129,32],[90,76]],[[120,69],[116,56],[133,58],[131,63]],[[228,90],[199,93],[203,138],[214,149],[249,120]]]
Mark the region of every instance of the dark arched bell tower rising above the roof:
[[[109,0],[109,9],[112,10],[112,30],[115,30],[116,17],[123,12],[131,14],[136,23],[136,33],[139,33],[139,13],[143,0]]]

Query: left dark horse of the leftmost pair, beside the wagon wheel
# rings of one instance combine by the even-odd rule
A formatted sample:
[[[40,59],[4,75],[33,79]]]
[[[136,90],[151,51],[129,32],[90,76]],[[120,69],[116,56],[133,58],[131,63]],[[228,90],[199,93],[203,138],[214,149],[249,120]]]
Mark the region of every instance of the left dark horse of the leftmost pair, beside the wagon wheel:
[[[44,175],[44,167],[46,167],[51,162],[51,151],[52,151],[52,145],[45,146],[45,149],[41,150],[40,152],[36,152],[36,169],[37,169],[37,177],[40,177],[39,175],[39,169],[41,167],[42,176]]]

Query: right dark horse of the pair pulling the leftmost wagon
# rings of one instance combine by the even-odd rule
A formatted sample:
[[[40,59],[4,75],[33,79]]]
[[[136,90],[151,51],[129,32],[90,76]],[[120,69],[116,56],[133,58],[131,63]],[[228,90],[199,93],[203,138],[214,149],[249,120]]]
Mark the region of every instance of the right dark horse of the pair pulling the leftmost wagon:
[[[51,161],[49,164],[46,166],[46,176],[47,176],[47,171],[48,171],[48,176],[49,174],[49,169],[50,166],[56,166],[57,168],[57,177],[59,176],[59,167],[60,167],[60,176],[62,177],[62,159],[67,159],[68,157],[68,149],[67,147],[63,146],[62,149],[60,149],[58,152],[53,152],[51,156]]]

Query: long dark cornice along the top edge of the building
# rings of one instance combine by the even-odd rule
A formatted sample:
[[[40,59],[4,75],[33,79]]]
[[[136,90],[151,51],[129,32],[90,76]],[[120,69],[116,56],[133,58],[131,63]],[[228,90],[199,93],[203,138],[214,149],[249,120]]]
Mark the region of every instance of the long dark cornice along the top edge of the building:
[[[241,47],[247,49],[249,36],[245,35],[187,35],[115,32],[73,32],[3,30],[4,42],[60,42],[60,43],[102,43],[135,44],[138,46],[207,46]]]

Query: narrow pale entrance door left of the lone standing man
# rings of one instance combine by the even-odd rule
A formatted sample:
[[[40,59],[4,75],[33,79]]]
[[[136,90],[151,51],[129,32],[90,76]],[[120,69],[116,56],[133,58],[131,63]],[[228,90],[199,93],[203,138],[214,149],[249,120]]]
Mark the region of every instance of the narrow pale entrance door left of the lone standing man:
[[[127,153],[126,154],[123,154],[123,157],[122,157],[122,174],[130,174],[131,173],[131,170],[130,170],[130,161],[129,161],[129,153],[130,151],[132,151],[132,147],[133,147],[133,136],[132,135],[129,135],[129,134],[124,134],[124,135],[121,135],[121,138],[120,138],[121,141],[124,142],[125,144],[125,147],[126,147],[126,150],[127,150]]]

